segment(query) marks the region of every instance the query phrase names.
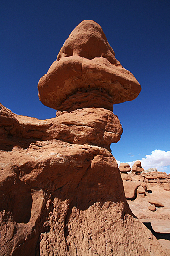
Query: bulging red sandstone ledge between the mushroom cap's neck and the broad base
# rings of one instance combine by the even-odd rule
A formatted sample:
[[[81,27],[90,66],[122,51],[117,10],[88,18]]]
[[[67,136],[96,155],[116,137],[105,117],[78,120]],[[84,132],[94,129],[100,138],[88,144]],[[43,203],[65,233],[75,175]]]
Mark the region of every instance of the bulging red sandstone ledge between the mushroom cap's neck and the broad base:
[[[117,116],[103,108],[79,109],[60,113],[50,120],[38,120],[19,116],[0,106],[0,149],[3,150],[13,148],[15,143],[26,148],[31,142],[50,139],[82,145],[87,143],[110,150],[110,144],[117,143],[123,131]]]

